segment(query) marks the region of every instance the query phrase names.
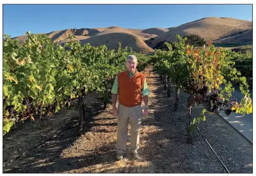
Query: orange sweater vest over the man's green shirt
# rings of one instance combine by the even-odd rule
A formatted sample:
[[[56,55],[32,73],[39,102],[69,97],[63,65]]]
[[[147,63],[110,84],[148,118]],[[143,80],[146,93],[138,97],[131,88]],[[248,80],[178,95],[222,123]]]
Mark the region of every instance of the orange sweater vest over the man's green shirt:
[[[117,74],[118,99],[125,107],[141,105],[143,100],[142,88],[144,85],[144,74],[137,71],[132,78],[127,71]]]

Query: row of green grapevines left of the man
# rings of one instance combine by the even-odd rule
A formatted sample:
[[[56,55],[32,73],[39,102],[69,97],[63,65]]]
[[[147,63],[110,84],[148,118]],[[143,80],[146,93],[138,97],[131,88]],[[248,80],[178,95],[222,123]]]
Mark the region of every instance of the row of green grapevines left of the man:
[[[115,76],[125,70],[125,59],[136,54],[131,48],[109,50],[105,45],[80,45],[69,36],[65,45],[54,44],[47,35],[26,33],[20,45],[4,34],[3,42],[3,131],[16,122],[51,116],[68,108],[78,99],[80,120],[84,124],[84,97],[92,91],[110,103],[110,86]],[[143,70],[148,57],[136,54]],[[79,128],[79,133],[81,129]]]

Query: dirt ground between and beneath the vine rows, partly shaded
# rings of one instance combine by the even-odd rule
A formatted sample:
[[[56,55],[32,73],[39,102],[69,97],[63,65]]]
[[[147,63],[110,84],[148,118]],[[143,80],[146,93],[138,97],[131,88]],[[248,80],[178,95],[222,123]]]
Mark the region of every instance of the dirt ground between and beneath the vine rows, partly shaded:
[[[86,132],[76,136],[77,126],[39,146],[3,168],[4,173],[226,173],[198,132],[195,143],[186,143],[182,104],[173,112],[174,92],[166,90],[155,73],[146,72],[150,115],[140,131],[140,161],[131,160],[127,143],[124,160],[115,160],[117,119],[112,107],[89,115]],[[186,98],[181,93],[181,98]],[[98,105],[99,106],[99,105]],[[95,104],[94,107],[97,107]],[[93,110],[93,107],[92,107]],[[194,108],[192,115],[202,107]],[[217,115],[199,126],[231,173],[252,173],[252,145]]]

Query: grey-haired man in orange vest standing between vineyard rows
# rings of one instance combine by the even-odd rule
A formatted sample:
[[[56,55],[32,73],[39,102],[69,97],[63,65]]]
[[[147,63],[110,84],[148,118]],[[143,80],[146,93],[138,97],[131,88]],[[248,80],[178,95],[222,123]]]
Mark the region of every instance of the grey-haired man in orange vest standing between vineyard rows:
[[[139,128],[143,114],[148,115],[148,85],[144,74],[136,69],[138,62],[134,55],[129,55],[126,61],[127,71],[117,74],[112,88],[113,115],[117,116],[117,160],[124,157],[127,143],[128,122],[131,126],[131,153],[134,159],[139,159]],[[118,109],[117,109],[118,95]],[[144,113],[141,103],[144,100]]]

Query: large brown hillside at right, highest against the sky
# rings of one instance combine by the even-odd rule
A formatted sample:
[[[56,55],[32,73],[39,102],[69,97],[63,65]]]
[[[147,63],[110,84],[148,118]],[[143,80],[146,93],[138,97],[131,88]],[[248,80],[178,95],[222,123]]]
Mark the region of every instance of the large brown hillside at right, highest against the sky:
[[[195,34],[208,41],[215,40],[225,35],[230,35],[231,33],[238,33],[252,28],[250,25],[252,21],[245,23],[245,20],[242,20],[241,24],[243,25],[241,25],[240,23],[234,22],[236,19],[233,21],[232,19],[233,18],[228,18],[225,20],[222,18],[209,17],[185,23],[184,25],[177,26],[176,28],[163,33],[162,35],[158,35],[154,40],[148,42],[148,45],[150,45],[150,47],[155,47],[158,42],[163,40],[175,41],[176,34],[181,35],[181,37],[184,35]]]

